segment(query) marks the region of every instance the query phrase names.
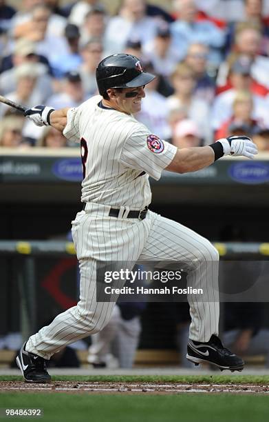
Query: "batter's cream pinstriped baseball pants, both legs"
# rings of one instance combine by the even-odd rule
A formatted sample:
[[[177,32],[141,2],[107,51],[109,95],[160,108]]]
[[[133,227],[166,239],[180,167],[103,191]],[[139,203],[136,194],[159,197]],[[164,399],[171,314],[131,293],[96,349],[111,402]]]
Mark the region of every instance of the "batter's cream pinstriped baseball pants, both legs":
[[[72,221],[72,236],[80,268],[80,300],[58,314],[50,325],[30,336],[26,350],[50,359],[69,343],[102,330],[108,323],[115,302],[96,302],[96,262],[188,261],[187,277],[192,288],[204,290],[204,300],[189,295],[190,338],[208,341],[218,334],[217,292],[219,255],[204,237],[180,223],[149,211],[144,220],[107,217],[110,207],[88,203]],[[123,218],[122,218],[123,217]],[[208,301],[205,301],[208,297]]]

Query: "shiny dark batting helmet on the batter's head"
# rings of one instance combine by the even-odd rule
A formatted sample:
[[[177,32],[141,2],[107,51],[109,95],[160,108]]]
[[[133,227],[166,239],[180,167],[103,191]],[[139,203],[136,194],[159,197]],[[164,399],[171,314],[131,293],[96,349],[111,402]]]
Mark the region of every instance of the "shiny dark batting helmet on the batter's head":
[[[100,95],[109,88],[137,88],[153,81],[155,76],[144,72],[140,60],[131,54],[113,54],[97,66],[96,82]]]

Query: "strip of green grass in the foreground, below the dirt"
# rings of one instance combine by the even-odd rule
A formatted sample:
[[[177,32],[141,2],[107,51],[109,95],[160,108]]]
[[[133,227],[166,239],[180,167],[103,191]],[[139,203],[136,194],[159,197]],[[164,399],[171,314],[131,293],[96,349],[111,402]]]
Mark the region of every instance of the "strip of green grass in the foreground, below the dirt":
[[[0,394],[1,408],[43,408],[42,422],[265,422],[268,401],[239,394]]]

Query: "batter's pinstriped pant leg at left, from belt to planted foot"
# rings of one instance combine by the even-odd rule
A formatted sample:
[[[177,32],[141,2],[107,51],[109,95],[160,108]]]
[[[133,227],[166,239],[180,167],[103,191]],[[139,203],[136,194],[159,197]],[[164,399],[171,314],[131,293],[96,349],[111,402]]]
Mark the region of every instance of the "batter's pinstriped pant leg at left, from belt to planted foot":
[[[96,264],[137,261],[149,235],[150,219],[96,218],[78,212],[72,236],[80,268],[80,300],[54,321],[30,336],[26,350],[50,359],[69,343],[102,330],[109,322],[114,301],[96,301]]]

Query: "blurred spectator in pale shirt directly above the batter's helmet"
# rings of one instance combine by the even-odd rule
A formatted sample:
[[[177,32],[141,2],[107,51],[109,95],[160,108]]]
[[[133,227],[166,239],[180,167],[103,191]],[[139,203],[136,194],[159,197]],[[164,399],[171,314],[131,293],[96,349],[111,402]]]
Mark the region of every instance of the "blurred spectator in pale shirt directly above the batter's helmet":
[[[144,0],[122,0],[119,14],[112,17],[105,30],[105,55],[123,52],[128,39],[151,41],[158,22],[146,14]]]

